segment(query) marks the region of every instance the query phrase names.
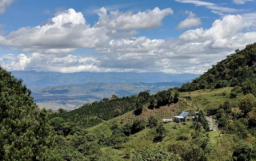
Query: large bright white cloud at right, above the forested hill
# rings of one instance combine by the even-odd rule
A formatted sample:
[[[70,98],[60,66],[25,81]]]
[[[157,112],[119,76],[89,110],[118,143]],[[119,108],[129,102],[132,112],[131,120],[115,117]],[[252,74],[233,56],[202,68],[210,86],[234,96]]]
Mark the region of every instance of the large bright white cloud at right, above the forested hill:
[[[211,48],[242,48],[254,42],[253,36],[250,38],[247,34],[254,35],[255,32],[242,32],[250,26],[254,26],[254,23],[246,21],[241,15],[226,15],[222,20],[216,20],[210,29],[199,28],[186,31],[179,37],[179,41],[190,43],[209,41]]]

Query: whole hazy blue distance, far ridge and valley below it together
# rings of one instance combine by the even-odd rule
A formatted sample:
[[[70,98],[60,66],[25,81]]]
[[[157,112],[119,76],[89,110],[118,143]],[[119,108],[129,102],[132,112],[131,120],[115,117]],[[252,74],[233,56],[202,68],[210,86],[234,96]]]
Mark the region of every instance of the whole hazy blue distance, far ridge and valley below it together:
[[[32,90],[40,108],[73,110],[104,97],[130,96],[150,89],[151,93],[180,87],[198,75],[167,73],[53,73],[13,71]]]

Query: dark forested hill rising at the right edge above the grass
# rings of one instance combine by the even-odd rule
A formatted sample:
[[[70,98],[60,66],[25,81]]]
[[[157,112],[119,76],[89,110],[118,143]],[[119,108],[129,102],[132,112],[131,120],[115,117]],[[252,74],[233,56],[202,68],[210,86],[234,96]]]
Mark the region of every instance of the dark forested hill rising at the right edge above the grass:
[[[246,49],[238,49],[225,60],[213,65],[201,77],[192,83],[183,84],[182,92],[203,88],[222,88],[226,86],[241,86],[243,92],[256,95],[256,43],[246,45]]]

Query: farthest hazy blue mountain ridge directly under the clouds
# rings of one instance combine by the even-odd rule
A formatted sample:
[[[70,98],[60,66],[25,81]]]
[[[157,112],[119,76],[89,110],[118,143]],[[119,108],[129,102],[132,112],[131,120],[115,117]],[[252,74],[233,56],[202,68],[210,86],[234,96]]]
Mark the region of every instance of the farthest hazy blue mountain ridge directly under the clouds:
[[[195,74],[168,73],[53,73],[36,71],[13,71],[14,77],[22,78],[29,88],[83,84],[87,82],[124,84],[134,82],[182,82],[186,83],[198,77]]]

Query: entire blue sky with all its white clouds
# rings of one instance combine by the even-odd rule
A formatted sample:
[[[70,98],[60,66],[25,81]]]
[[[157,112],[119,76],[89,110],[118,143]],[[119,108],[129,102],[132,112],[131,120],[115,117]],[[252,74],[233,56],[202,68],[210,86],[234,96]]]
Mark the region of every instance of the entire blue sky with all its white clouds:
[[[0,0],[8,71],[202,74],[254,42],[254,0]]]

